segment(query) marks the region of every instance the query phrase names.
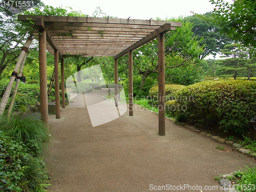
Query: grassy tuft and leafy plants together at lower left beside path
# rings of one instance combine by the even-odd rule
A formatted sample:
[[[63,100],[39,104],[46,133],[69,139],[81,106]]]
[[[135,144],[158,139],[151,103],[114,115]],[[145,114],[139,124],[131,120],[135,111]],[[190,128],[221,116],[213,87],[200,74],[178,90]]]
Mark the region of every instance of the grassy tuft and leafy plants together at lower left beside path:
[[[42,153],[48,143],[48,128],[39,119],[1,116],[0,190],[46,191],[49,184]]]

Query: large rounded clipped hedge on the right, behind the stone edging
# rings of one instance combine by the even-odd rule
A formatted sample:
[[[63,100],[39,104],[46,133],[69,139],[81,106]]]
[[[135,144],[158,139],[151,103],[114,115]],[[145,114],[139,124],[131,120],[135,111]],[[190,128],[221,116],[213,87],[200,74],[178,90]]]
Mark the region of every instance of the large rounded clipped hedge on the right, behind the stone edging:
[[[191,123],[226,133],[246,134],[256,114],[256,82],[202,81],[179,91],[177,104],[185,106]]]

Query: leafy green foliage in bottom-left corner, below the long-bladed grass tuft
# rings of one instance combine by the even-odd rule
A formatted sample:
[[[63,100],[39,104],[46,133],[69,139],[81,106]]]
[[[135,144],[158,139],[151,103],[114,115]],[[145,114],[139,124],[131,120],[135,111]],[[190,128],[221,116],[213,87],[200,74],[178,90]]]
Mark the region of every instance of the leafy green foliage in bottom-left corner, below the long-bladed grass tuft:
[[[0,190],[46,191],[49,185],[45,164],[33,157],[22,142],[0,132]]]

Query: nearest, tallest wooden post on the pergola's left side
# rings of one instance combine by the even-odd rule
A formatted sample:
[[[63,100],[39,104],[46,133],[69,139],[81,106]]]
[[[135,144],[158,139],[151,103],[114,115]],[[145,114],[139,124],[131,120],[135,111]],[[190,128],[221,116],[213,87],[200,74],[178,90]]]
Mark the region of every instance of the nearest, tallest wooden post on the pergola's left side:
[[[41,120],[48,126],[46,31],[39,30],[39,79]]]

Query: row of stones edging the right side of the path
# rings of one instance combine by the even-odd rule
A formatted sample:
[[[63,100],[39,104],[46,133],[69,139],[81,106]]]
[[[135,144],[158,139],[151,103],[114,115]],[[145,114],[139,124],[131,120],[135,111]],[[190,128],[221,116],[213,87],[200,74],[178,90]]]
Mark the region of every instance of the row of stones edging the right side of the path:
[[[144,109],[145,109],[145,108],[144,108]],[[147,110],[147,109],[145,109],[145,110]],[[154,112],[154,111],[152,111],[152,110],[147,110],[147,111],[151,111],[152,113],[155,113],[155,114],[158,115],[158,113],[156,113],[156,112]],[[166,118],[166,119],[169,119],[170,121],[173,121],[174,123],[176,123],[174,119],[171,119],[171,118],[169,118],[169,117],[165,117],[165,118]],[[189,130],[192,130],[192,131],[194,131],[194,132],[197,132],[197,133],[199,133],[199,134],[202,135],[202,136],[209,137],[209,138],[211,138],[211,139],[217,141],[217,142],[220,143],[220,144],[227,144],[227,145],[229,145],[230,147],[232,147],[235,151],[238,151],[239,153],[241,153],[241,154],[243,154],[243,155],[247,155],[247,156],[256,158],[256,153],[253,153],[251,150],[248,150],[248,149],[242,147],[242,145],[239,144],[239,143],[234,143],[233,141],[228,141],[228,140],[223,139],[223,138],[221,138],[221,137],[219,137],[219,136],[213,136],[212,134],[209,134],[209,133],[207,133],[207,132],[205,132],[205,131],[198,130],[197,127],[192,126],[192,125],[189,125],[189,124],[186,124],[186,123],[177,123],[177,124],[184,126],[186,129],[189,129]],[[230,147],[227,147],[227,148],[232,150],[232,148],[230,148]],[[233,175],[233,173],[226,174],[226,175],[221,175],[221,176],[220,176],[220,178],[222,178],[222,179],[219,181],[219,182],[220,182],[220,185],[221,185],[221,186],[226,186],[225,189],[224,189],[224,191],[226,191],[226,192],[237,192],[236,189],[230,188],[230,186],[232,186],[232,183],[231,183],[231,181],[229,181],[229,180],[226,179],[226,178],[228,178],[228,177],[230,177],[230,176],[232,176],[232,175]]]

